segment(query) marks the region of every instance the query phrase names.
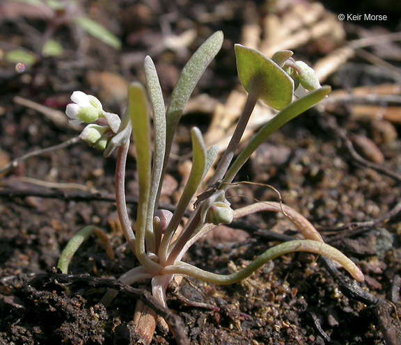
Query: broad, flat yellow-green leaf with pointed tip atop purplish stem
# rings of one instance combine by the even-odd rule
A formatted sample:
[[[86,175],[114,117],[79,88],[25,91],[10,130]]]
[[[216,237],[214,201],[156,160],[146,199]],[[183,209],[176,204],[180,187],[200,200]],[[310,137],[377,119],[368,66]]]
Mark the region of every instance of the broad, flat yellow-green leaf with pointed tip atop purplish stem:
[[[248,93],[277,110],[292,102],[294,81],[274,61],[242,45],[235,45],[235,57],[239,80]]]

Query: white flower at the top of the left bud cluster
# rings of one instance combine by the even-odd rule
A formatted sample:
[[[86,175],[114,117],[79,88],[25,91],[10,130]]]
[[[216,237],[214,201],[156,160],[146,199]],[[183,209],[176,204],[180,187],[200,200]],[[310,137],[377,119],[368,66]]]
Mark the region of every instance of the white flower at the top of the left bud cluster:
[[[65,113],[72,125],[79,125],[81,122],[95,122],[100,115],[103,115],[102,103],[92,95],[86,95],[82,91],[74,91],[71,95],[74,103],[68,104]]]

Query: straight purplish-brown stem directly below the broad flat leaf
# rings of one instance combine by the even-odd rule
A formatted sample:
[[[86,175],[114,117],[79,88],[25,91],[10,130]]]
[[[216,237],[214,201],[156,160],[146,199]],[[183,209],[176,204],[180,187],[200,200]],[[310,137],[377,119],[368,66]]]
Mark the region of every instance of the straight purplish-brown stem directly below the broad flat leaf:
[[[233,136],[231,137],[230,143],[226,151],[223,154],[219,161],[219,165],[216,168],[216,172],[212,179],[210,179],[209,185],[216,183],[219,179],[222,179],[224,174],[230,166],[231,161],[234,158],[235,151],[237,150],[239,141],[241,141],[242,135],[244,134],[246,125],[248,124],[249,118],[251,117],[252,111],[255,108],[255,104],[258,101],[258,93],[251,90],[246,98],[246,103],[244,109],[242,110],[242,114],[239,117],[237,127],[235,127],[235,131]]]

